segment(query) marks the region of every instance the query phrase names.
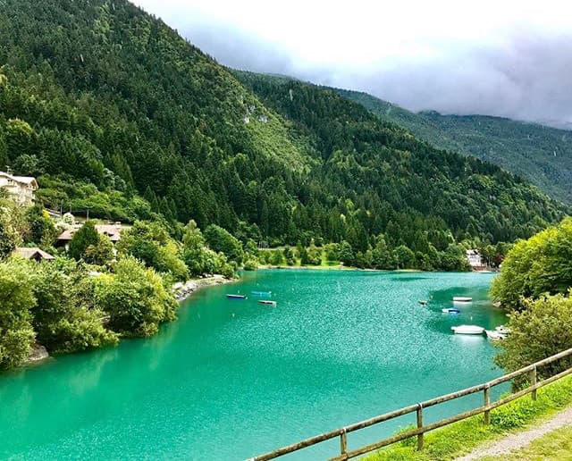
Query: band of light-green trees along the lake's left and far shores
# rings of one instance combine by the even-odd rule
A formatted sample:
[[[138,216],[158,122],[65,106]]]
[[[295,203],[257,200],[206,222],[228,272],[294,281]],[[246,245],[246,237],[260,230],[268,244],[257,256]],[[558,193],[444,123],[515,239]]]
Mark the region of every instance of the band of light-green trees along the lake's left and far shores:
[[[175,228],[160,219],[136,221],[123,226],[114,242],[97,231],[101,227],[109,226],[97,220],[78,224],[71,214],[54,217],[39,205],[22,208],[0,189],[0,369],[26,364],[39,347],[50,354],[70,353],[154,335],[161,323],[176,317],[175,300],[199,286],[232,280],[239,269],[433,269],[407,247],[391,249],[383,236],[362,253],[347,241],[316,245],[313,239],[307,247],[299,242],[261,249],[248,236],[238,239],[214,224],[203,232],[192,220]],[[65,232],[69,239],[63,247],[58,236]],[[38,263],[21,256],[34,248],[53,260]],[[504,248],[483,251],[501,257]],[[435,257],[438,267],[470,269],[461,245],[451,244]],[[206,279],[214,274],[219,277]],[[187,282],[193,278],[198,281]]]

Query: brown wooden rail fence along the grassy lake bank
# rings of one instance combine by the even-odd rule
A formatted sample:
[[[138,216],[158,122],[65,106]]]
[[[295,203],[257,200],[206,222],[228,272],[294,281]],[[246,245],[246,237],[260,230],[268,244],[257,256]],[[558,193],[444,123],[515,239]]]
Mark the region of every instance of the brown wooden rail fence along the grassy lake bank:
[[[370,451],[374,451],[375,449],[386,447],[401,440],[406,440],[409,437],[416,437],[417,449],[423,449],[423,436],[425,432],[433,431],[433,429],[437,429],[451,423],[457,423],[458,421],[467,419],[471,416],[480,415],[481,413],[484,413],[484,423],[488,424],[490,423],[490,415],[491,415],[491,410],[493,408],[501,407],[511,402],[512,400],[526,396],[526,394],[532,394],[532,398],[535,400],[536,390],[542,388],[543,386],[553,381],[558,381],[560,378],[563,378],[564,376],[567,376],[568,374],[572,373],[572,368],[568,368],[564,372],[558,373],[543,381],[537,381],[536,370],[543,365],[551,364],[561,358],[568,356],[572,356],[572,348],[569,348],[568,350],[560,352],[559,354],[556,354],[554,356],[550,356],[548,358],[540,360],[539,362],[536,362],[532,365],[525,366],[524,368],[521,368],[516,372],[505,374],[495,380],[484,382],[483,384],[478,384],[476,386],[473,386],[472,388],[458,390],[457,392],[451,392],[450,394],[446,394],[437,398],[432,398],[431,400],[426,400],[425,402],[417,403],[415,405],[410,405],[409,407],[400,408],[399,410],[391,411],[390,413],[374,416],[373,418],[366,419],[365,421],[341,427],[340,429],[336,429],[335,431],[324,432],[314,437],[310,437],[309,439],[299,441],[298,443],[293,443],[286,447],[275,449],[273,451],[265,453],[264,455],[251,457],[249,461],[265,461],[266,459],[282,457],[294,451],[298,451],[302,448],[311,447],[318,443],[324,442],[325,440],[332,440],[336,437],[340,438],[340,455],[337,457],[332,457],[332,460],[336,461],[349,459],[352,457],[358,457]],[[522,376],[523,374],[528,374],[529,378],[528,380],[529,385],[525,389],[509,394],[509,396],[501,398],[500,400],[491,402],[491,388],[493,388],[494,386],[498,386],[503,382],[512,381],[513,379],[517,378],[518,376]],[[444,402],[449,402],[450,400],[454,400],[456,398],[465,397],[470,394],[475,394],[475,392],[483,392],[484,404],[482,407],[477,407],[465,413],[454,415],[451,416],[450,418],[442,419],[440,421],[437,421],[436,423],[430,423],[426,425],[423,423],[423,411],[425,408],[433,407],[435,405],[439,405]],[[416,429],[412,429],[408,432],[400,432],[397,435],[393,435],[392,437],[389,437],[387,439],[383,439],[378,442],[372,443],[370,445],[366,445],[365,447],[353,450],[348,449],[349,432],[359,431],[360,429],[373,426],[374,424],[383,423],[385,421],[389,421],[399,416],[408,415],[414,412],[416,413],[416,420],[417,420]]]

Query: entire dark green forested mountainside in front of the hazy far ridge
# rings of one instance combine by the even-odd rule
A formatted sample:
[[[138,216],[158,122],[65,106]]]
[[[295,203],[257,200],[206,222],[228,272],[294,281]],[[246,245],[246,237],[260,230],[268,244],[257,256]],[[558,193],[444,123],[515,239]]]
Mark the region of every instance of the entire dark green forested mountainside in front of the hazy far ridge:
[[[0,8],[0,167],[38,175],[45,205],[422,256],[568,211],[331,90],[233,74],[124,0]]]

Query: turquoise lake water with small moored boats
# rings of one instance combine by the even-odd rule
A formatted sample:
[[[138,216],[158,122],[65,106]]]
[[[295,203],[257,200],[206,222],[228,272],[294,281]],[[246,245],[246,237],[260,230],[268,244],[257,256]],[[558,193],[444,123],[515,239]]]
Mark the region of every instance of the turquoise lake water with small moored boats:
[[[244,459],[492,379],[502,373],[490,342],[450,331],[505,321],[487,300],[491,281],[485,273],[247,272],[200,290],[155,338],[0,375],[0,458]],[[224,296],[251,290],[272,290],[278,306]],[[474,302],[442,314],[453,296]],[[427,409],[425,420],[481,401]],[[414,418],[349,434],[349,448]],[[332,440],[285,459],[338,449]]]

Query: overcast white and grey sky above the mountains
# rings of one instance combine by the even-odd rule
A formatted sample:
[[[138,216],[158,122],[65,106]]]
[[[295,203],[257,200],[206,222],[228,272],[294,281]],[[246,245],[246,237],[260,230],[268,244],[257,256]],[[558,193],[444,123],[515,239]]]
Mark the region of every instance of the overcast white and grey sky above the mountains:
[[[572,122],[566,0],[134,0],[219,62],[419,111]]]

